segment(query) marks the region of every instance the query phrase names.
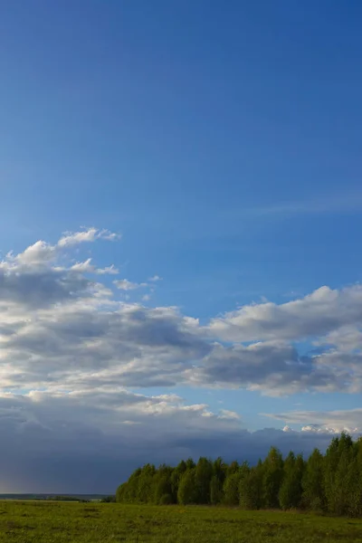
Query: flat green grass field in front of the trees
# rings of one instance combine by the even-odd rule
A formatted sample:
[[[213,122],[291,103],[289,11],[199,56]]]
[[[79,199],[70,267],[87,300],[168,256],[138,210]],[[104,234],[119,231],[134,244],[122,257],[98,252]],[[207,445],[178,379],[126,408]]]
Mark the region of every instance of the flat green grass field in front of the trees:
[[[0,542],[362,542],[362,520],[222,508],[0,501]]]

